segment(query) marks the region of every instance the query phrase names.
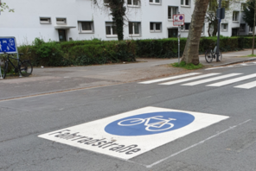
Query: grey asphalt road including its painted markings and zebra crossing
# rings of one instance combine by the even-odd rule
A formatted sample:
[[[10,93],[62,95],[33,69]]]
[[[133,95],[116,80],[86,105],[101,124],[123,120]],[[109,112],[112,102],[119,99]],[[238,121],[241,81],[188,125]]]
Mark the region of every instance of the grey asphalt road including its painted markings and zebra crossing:
[[[1,101],[0,170],[256,170],[255,65],[176,76]],[[160,113],[144,117],[137,110]],[[161,110],[174,114],[172,120],[163,119]],[[132,123],[133,115],[144,118]],[[118,118],[107,130],[105,123]],[[63,138],[69,132],[75,137]],[[109,135],[116,146],[102,146]],[[83,136],[95,142],[73,141]]]

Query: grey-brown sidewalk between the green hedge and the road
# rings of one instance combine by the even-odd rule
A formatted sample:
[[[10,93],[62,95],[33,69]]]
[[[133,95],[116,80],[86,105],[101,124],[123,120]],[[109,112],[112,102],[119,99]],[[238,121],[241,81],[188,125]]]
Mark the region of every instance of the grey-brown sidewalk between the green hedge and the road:
[[[222,54],[221,62],[207,63],[204,55],[200,62],[206,67],[230,65],[256,58],[241,57],[251,49]],[[99,66],[35,67],[29,78],[0,79],[0,101],[10,98],[34,96],[54,92],[74,91],[105,85],[123,84],[144,79],[156,79],[191,71],[171,67],[178,59],[138,59],[136,63]]]

